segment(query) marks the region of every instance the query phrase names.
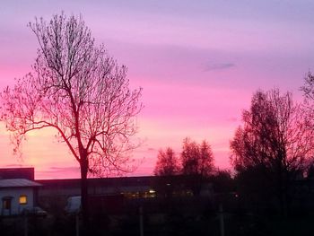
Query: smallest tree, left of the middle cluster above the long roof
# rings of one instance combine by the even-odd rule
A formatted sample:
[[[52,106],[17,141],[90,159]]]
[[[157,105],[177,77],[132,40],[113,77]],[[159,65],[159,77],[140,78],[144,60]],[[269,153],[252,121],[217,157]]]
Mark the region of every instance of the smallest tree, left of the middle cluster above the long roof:
[[[166,151],[162,149],[159,151],[153,172],[155,175],[159,176],[179,174],[179,160],[170,147],[168,147]]]

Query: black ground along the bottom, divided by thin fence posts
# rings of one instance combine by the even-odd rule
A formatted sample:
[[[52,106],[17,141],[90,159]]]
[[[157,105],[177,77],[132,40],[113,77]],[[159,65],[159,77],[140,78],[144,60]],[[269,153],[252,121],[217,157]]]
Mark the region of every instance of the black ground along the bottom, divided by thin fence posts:
[[[29,219],[28,235],[75,235],[75,218],[59,216]],[[314,235],[314,215],[260,217],[253,214],[224,214],[225,236]],[[81,229],[82,230],[82,229]],[[24,235],[24,220],[2,220],[0,235]],[[81,232],[81,235],[83,233]],[[91,222],[87,235],[140,235],[139,215],[97,217]],[[144,214],[144,235],[185,236],[220,235],[219,215]]]

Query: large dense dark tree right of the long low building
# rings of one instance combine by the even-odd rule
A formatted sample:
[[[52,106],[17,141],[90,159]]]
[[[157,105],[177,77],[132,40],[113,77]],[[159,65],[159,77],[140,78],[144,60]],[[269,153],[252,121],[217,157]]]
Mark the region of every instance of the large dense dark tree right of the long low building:
[[[231,163],[238,173],[250,173],[246,175],[250,179],[252,173],[263,175],[285,211],[289,181],[306,170],[313,156],[313,131],[308,128],[308,119],[300,104],[292,101],[290,92],[280,94],[274,89],[256,92],[242,120],[231,140]]]

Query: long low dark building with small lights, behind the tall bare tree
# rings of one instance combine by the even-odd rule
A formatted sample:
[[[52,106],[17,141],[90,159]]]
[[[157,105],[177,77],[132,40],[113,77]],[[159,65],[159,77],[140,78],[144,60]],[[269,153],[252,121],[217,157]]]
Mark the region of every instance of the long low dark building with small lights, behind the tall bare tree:
[[[188,205],[202,208],[203,202],[206,204],[214,196],[213,188],[210,183],[199,184],[197,180],[193,176],[87,179],[89,205],[92,212],[116,214],[135,212],[139,206],[144,206],[146,213],[157,213],[165,211],[170,202],[182,209]],[[61,213],[69,199],[81,196],[81,179],[43,179],[37,182],[42,185],[39,205],[50,213]]]

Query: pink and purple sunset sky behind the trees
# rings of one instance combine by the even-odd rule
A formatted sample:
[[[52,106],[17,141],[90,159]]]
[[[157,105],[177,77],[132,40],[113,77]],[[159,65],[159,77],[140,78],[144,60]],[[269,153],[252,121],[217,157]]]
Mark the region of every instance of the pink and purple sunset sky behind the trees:
[[[208,140],[215,163],[230,168],[229,142],[257,89],[279,87],[301,101],[314,71],[312,0],[1,1],[0,89],[31,71],[38,42],[28,22],[55,13],[83,16],[97,43],[143,87],[138,116],[144,143],[131,175],[150,175],[160,148]],[[0,125],[0,167],[34,166],[36,179],[77,178],[78,163],[52,130],[32,133],[13,156]]]

